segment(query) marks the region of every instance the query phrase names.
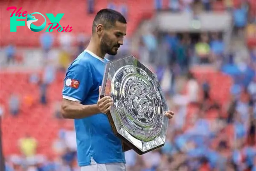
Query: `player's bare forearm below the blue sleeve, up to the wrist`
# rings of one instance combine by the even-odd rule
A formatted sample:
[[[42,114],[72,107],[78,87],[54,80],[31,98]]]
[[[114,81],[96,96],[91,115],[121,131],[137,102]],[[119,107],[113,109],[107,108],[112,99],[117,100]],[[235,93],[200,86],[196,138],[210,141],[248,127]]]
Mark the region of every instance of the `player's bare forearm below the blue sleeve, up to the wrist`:
[[[72,104],[62,105],[61,113],[66,119],[81,119],[100,113],[100,111],[97,104],[83,105],[74,102]]]

